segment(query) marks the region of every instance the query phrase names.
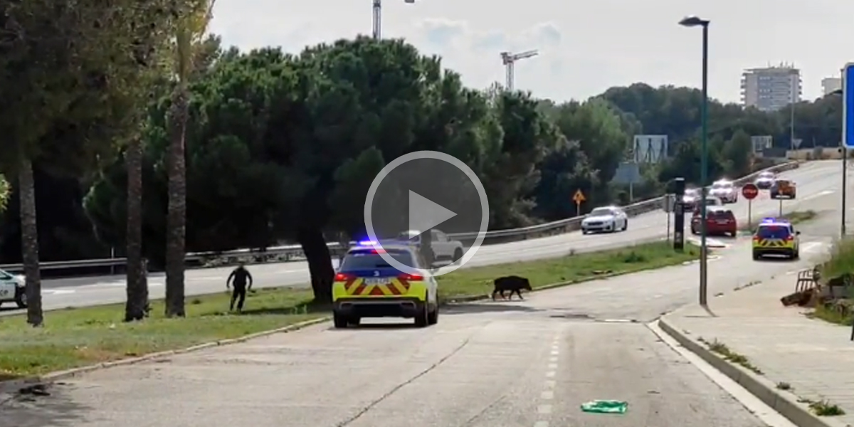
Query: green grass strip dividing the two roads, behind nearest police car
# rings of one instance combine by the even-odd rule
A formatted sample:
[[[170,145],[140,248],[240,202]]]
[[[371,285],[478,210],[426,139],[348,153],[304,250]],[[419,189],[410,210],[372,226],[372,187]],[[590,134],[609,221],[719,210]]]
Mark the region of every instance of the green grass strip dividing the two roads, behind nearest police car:
[[[677,253],[667,243],[649,243],[553,260],[460,269],[438,280],[442,298],[453,299],[485,295],[492,290],[492,280],[503,275],[527,277],[538,289],[673,266],[698,256],[692,245]],[[165,319],[163,302],[152,301],[151,317],[135,323],[120,322],[122,304],[67,308],[45,313],[45,326],[37,329],[27,326],[21,315],[2,317],[0,380],[237,338],[328,314],[327,307],[314,307],[311,299],[310,290],[260,289],[249,294],[246,309],[237,315],[227,313],[227,293],[197,295],[187,298],[184,319]]]

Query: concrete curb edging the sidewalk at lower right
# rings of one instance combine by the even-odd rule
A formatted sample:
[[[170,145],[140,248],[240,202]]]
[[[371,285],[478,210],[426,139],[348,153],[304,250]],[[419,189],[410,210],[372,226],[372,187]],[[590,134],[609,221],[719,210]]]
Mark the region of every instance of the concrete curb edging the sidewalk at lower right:
[[[666,317],[666,316],[665,316]],[[771,383],[767,378],[761,377],[751,371],[747,371],[741,366],[736,366],[723,360],[717,354],[714,354],[708,348],[689,338],[687,333],[681,332],[676,326],[670,325],[664,317],[658,319],[658,327],[664,330],[667,335],[673,337],[676,342],[679,342],[682,347],[687,348],[693,354],[697,354],[705,360],[709,365],[713,366],[717,371],[731,378],[735,383],[744,387],[752,395],[755,395],[760,401],[779,412],[783,417],[786,417],[798,427],[847,427],[837,419],[830,417],[819,417],[810,412],[809,407],[803,403],[798,403],[798,396],[793,395],[784,390],[776,388],[774,383]]]

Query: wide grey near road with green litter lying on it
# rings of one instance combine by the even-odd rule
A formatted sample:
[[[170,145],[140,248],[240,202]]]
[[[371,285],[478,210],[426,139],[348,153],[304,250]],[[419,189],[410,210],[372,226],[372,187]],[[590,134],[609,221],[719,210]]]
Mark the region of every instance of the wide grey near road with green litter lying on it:
[[[818,166],[799,173],[823,179],[819,194],[833,190],[829,172]],[[802,190],[816,188],[801,185]],[[838,194],[809,200],[807,193],[802,196],[819,213],[815,222],[799,227],[802,260],[753,261],[748,237],[728,240],[728,248],[716,250],[718,257],[710,261],[712,310],[713,295],[795,272],[826,251],[839,232]],[[395,319],[348,330],[316,325],[94,371],[56,385],[50,396],[8,401],[0,407],[0,424],[766,425],[645,325],[660,313],[696,301],[697,273],[694,263],[537,292],[525,301],[447,307],[439,324],[427,329],[392,325]],[[628,401],[629,412],[580,411],[582,402],[594,399]]]

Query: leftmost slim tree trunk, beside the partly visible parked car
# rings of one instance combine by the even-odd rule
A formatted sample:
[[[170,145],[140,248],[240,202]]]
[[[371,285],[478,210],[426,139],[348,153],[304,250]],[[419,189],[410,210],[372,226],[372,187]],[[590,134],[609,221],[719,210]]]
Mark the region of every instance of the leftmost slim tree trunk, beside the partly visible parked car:
[[[38,271],[38,228],[36,225],[36,183],[32,161],[21,159],[18,170],[20,195],[20,246],[26,276],[26,323],[44,325],[42,278]]]

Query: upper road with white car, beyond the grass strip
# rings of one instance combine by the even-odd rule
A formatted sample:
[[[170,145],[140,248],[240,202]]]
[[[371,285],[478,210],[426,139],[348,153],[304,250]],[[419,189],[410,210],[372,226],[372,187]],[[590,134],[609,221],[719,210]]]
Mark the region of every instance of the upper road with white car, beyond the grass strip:
[[[783,173],[798,183],[798,199],[783,202],[784,210],[804,210],[812,208],[816,198],[837,195],[839,191],[839,161],[815,161],[802,167]],[[746,221],[747,202],[740,197],[739,202],[731,206]],[[768,192],[762,191],[753,202],[753,216],[759,218],[763,213],[776,213],[777,201],[769,200]],[[663,238],[666,233],[667,216],[664,212],[651,212],[629,219],[629,230],[614,234],[583,236],[580,231],[553,237],[543,237],[513,243],[483,246],[464,267],[486,266],[518,260],[535,260],[558,257],[570,251],[589,252],[602,249],[614,249],[634,243],[648,242]],[[688,235],[690,236],[690,235]],[[305,262],[287,262],[250,266],[255,278],[255,286],[306,286],[308,271]],[[230,268],[209,268],[188,270],[186,272],[187,295],[208,294],[225,290],[225,278]],[[86,305],[107,304],[125,301],[125,277],[110,276],[97,278],[63,278],[43,282],[44,308],[82,307]],[[164,276],[155,273],[149,276],[149,290],[152,298],[164,295]],[[6,307],[10,307],[7,305]],[[4,310],[2,314],[17,313],[17,310]]]

